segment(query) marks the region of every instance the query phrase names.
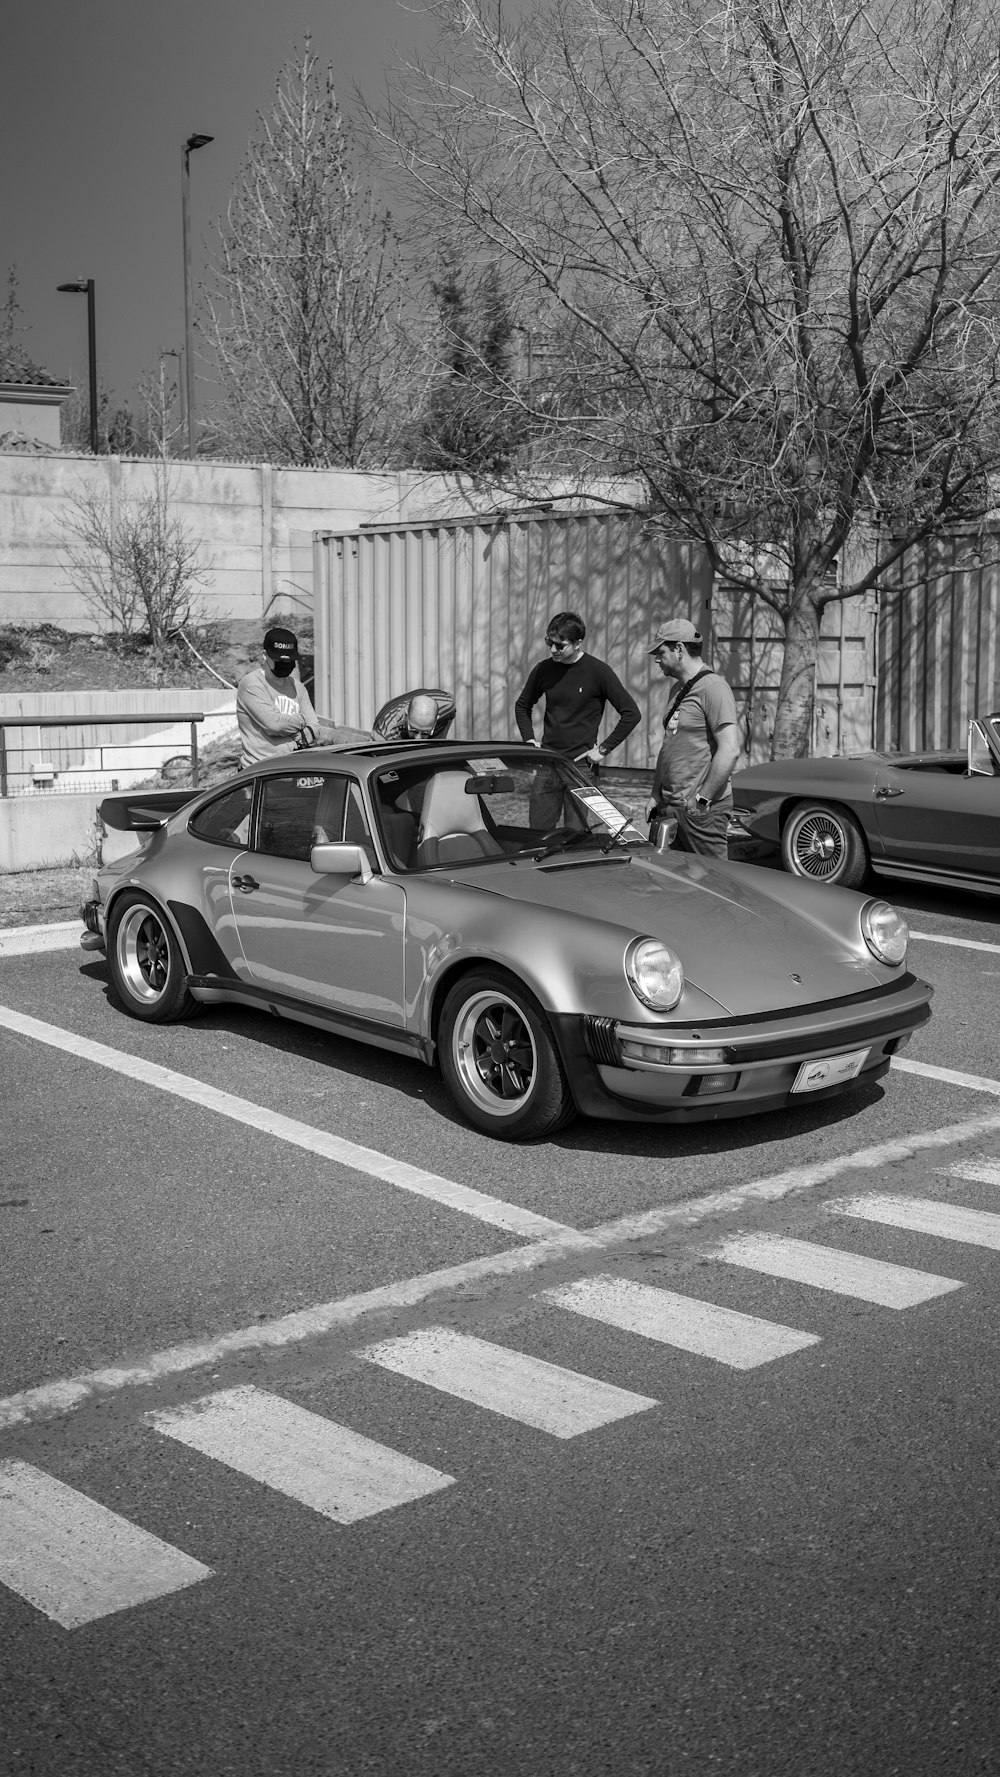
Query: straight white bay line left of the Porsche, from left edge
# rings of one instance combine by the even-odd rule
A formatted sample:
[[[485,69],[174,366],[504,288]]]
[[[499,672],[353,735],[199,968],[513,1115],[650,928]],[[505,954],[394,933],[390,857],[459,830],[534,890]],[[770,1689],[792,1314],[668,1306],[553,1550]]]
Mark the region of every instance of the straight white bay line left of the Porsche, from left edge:
[[[204,1080],[195,1080],[187,1073],[174,1073],[172,1068],[163,1068],[156,1061],[144,1061],[140,1056],[130,1056],[121,1048],[107,1048],[105,1043],[94,1043],[89,1036],[76,1036],[75,1031],[62,1031],[53,1024],[43,1024],[41,1018],[30,1018],[27,1013],[12,1011],[9,1006],[0,1006],[0,1029],[4,1027],[14,1031],[18,1036],[30,1036],[37,1043],[60,1048],[67,1056],[78,1056],[82,1061],[94,1061],[98,1066],[123,1073],[142,1086],[155,1086],[156,1091],[172,1093],[176,1098],[201,1105],[204,1111],[217,1111],[236,1123],[245,1123],[247,1128],[261,1130],[265,1136],[277,1136],[279,1141],[290,1143],[293,1148],[306,1148],[309,1153],[318,1153],[337,1166],[348,1166],[355,1173],[382,1178],[398,1191],[432,1198],[435,1203],[444,1203],[464,1215],[474,1215],[476,1221],[504,1228],[508,1233],[524,1235],[526,1240],[544,1240],[552,1233],[572,1233],[565,1223],[536,1215],[517,1203],[503,1203],[499,1198],[490,1198],[471,1185],[456,1185],[449,1178],[439,1178],[437,1173],[425,1173],[421,1166],[394,1160],[387,1153],[377,1153],[375,1148],[361,1148],[355,1141],[345,1141],[343,1136],[334,1136],[330,1130],[297,1123],[295,1118],[282,1116],[281,1111],[266,1111],[249,1098],[236,1098],[217,1086],[208,1086]]]

